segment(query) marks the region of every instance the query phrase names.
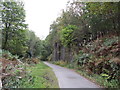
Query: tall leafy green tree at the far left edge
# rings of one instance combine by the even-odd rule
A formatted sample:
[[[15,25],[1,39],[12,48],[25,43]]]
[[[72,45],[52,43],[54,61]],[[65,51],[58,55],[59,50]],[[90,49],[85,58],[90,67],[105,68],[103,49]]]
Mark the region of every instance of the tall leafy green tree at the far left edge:
[[[25,10],[22,2],[1,2],[2,49],[22,54],[26,49]]]

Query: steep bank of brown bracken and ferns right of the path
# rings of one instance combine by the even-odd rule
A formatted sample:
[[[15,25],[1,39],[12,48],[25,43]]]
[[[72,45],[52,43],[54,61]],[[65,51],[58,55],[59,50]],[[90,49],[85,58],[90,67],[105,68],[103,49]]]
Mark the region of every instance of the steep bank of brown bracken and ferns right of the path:
[[[120,83],[120,45],[118,36],[105,36],[89,42],[74,55],[74,61],[61,66],[75,68],[77,71],[104,87],[119,87]]]

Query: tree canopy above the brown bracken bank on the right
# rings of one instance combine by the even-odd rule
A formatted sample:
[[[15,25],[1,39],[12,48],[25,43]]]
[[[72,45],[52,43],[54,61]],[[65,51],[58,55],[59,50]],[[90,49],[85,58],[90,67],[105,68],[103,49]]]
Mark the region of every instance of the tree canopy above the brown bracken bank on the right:
[[[52,49],[55,43],[59,43],[61,47],[72,47],[72,51],[77,53],[99,37],[118,34],[118,6],[117,2],[67,3],[67,8],[50,27],[48,42]]]

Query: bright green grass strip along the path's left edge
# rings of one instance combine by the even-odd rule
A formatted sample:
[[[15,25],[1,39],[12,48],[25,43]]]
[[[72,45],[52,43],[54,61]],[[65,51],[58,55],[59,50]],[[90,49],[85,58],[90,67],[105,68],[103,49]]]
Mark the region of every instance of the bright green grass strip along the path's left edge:
[[[58,82],[52,69],[43,62],[27,67],[29,75],[22,88],[58,88]],[[28,80],[29,79],[29,80]]]

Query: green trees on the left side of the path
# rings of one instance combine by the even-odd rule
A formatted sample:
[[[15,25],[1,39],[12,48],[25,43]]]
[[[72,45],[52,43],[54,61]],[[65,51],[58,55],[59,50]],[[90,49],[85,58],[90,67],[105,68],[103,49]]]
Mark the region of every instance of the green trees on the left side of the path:
[[[1,2],[2,49],[18,56],[39,57],[42,41],[25,24],[23,2]],[[28,55],[30,53],[31,55]]]

